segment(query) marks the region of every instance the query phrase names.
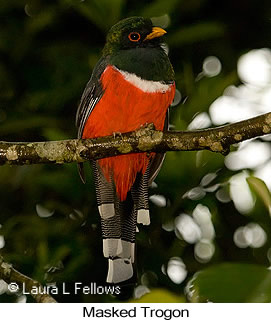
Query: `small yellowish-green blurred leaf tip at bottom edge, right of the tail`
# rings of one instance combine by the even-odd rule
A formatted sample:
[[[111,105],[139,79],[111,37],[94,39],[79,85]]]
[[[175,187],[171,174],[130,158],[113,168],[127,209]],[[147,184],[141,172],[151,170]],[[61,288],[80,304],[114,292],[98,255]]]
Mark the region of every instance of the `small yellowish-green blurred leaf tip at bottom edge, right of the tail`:
[[[185,303],[183,296],[176,295],[165,289],[153,289],[150,293],[145,294],[133,303]]]

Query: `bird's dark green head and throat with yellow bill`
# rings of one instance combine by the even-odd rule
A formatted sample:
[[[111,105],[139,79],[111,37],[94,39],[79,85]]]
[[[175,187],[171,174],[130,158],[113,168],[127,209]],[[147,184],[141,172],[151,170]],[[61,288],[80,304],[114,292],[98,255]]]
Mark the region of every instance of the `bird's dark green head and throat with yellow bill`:
[[[117,68],[145,80],[172,82],[173,68],[161,47],[166,31],[154,27],[151,19],[126,18],[108,32],[103,56]]]

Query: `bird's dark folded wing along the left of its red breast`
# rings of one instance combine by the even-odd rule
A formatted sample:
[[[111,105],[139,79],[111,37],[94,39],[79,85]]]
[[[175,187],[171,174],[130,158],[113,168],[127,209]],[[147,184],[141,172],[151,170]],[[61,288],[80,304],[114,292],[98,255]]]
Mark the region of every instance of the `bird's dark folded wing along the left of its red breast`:
[[[103,89],[100,82],[100,77],[108,65],[108,59],[102,57],[95,66],[90,80],[88,81],[85,90],[82,94],[77,113],[75,124],[78,128],[77,137],[82,138],[85,124],[93,111],[95,105],[103,96]],[[78,164],[79,175],[85,183],[83,163]]]

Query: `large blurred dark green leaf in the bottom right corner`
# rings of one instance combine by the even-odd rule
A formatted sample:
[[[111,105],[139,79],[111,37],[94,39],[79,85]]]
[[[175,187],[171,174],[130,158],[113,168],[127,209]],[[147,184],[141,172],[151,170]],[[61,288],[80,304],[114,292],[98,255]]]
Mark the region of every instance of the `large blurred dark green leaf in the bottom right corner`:
[[[194,275],[186,287],[191,302],[271,301],[271,271],[253,264],[223,263]]]

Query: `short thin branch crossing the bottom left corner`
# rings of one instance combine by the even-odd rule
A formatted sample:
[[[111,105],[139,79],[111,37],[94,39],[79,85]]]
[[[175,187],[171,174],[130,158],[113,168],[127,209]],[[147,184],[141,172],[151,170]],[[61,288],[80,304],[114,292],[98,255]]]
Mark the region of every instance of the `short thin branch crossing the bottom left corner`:
[[[3,258],[0,256],[0,279],[4,280],[9,284],[10,291],[19,291],[19,288],[28,292],[38,303],[57,303],[56,300],[49,294],[44,292],[36,293],[36,290],[43,291],[44,287],[29,278],[17,270],[15,270],[10,264],[4,262]],[[35,291],[35,292],[33,292]]]

